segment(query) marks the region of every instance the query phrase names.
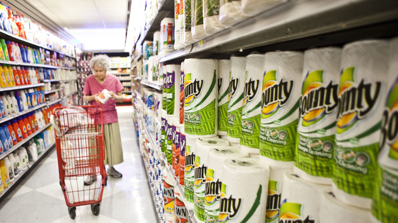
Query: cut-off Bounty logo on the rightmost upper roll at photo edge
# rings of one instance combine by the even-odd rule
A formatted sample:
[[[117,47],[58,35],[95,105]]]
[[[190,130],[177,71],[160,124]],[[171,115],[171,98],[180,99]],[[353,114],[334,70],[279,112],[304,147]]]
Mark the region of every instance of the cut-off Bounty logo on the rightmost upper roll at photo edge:
[[[398,160],[398,78],[387,94],[386,108],[382,116],[380,149],[387,144],[388,156]]]

